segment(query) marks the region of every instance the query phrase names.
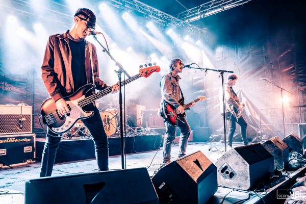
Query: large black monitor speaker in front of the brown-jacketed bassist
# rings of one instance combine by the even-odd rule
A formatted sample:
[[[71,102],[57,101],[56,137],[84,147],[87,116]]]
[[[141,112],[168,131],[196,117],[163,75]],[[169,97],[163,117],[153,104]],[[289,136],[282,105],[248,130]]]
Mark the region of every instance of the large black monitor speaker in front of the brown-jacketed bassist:
[[[159,203],[146,168],[44,177],[25,183],[25,204]]]

